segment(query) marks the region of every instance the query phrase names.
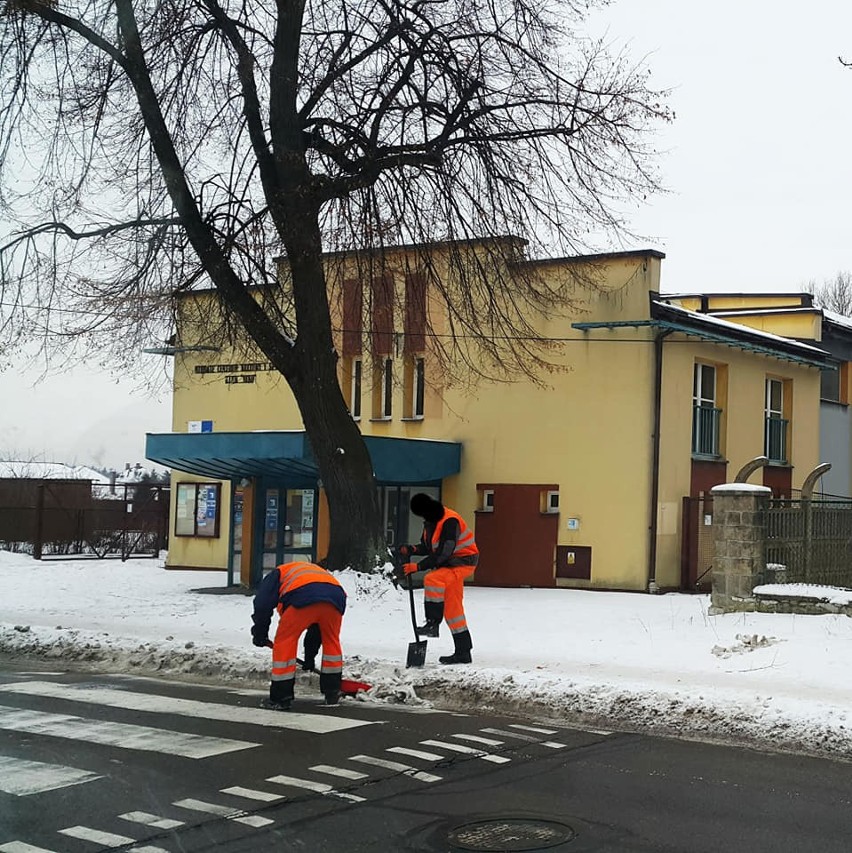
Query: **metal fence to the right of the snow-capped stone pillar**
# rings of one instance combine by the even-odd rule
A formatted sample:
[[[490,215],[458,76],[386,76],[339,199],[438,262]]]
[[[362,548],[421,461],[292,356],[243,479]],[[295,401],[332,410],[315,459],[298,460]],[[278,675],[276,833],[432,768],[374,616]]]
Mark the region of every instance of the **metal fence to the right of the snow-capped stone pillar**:
[[[852,586],[852,500],[771,500],[765,581]]]

